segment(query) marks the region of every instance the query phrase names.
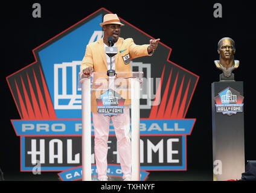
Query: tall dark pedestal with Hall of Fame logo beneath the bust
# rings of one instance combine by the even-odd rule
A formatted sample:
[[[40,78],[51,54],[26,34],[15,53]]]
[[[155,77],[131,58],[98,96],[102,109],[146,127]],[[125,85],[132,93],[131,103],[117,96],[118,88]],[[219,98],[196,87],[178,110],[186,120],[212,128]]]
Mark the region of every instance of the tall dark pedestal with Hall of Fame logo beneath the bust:
[[[245,171],[243,82],[211,84],[214,180],[241,179]]]

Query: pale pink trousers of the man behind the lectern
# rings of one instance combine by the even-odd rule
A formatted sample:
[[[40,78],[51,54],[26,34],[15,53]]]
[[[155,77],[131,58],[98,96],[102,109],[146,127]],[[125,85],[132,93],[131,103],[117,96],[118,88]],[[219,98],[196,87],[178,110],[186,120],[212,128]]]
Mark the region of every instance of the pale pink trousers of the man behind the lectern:
[[[92,113],[94,122],[94,152],[97,165],[98,179],[107,178],[107,140],[109,138],[110,120],[115,128],[117,151],[123,172],[123,179],[131,177],[132,155],[130,140],[127,140],[126,128],[130,127],[129,106],[124,107],[124,113],[117,116],[104,116]]]

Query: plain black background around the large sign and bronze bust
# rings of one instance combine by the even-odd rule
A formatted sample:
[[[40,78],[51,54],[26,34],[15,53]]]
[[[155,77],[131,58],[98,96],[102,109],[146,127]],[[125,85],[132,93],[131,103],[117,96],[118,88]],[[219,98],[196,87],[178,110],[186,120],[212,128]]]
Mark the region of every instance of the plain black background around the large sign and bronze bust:
[[[33,18],[32,5],[40,3],[42,17]],[[93,2],[93,3],[92,3]],[[213,5],[222,4],[222,18]],[[5,180],[58,180],[57,172],[20,172],[20,139],[10,119],[19,119],[5,77],[35,61],[32,49],[81,21],[101,7],[117,13],[155,39],[172,48],[171,62],[199,75],[186,118],[196,118],[187,137],[187,171],[150,171],[149,180],[213,180],[211,83],[219,81],[217,43],[222,37],[235,40],[235,59],[240,66],[235,80],[244,82],[245,160],[255,153],[255,8],[246,1],[11,1],[1,5],[4,26],[4,75],[1,104],[4,123],[0,134],[0,167]],[[147,42],[146,42],[147,43]]]

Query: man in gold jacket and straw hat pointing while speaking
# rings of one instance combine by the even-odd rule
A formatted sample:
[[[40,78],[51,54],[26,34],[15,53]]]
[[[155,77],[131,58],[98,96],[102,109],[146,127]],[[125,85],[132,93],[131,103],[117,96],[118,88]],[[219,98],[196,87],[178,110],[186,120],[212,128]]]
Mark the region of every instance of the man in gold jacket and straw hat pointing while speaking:
[[[121,27],[124,24],[121,24],[117,14],[104,15],[103,23],[100,25],[104,31],[103,38],[86,46],[85,57],[80,66],[80,71],[86,76],[91,75],[92,72],[107,72],[110,69],[110,57],[105,53],[105,48],[111,46],[108,42],[111,37],[112,43],[118,49],[115,57],[112,57],[112,69],[117,72],[131,72],[130,60],[152,55],[158,47],[160,39],[150,40],[150,44],[147,45],[136,45],[132,38],[123,39],[119,37]],[[107,181],[107,140],[110,120],[112,120],[117,137],[117,150],[120,157],[123,180],[131,180],[131,143],[127,141],[127,128],[130,128],[130,113],[129,104],[125,105],[123,114],[112,117],[98,114],[94,104],[91,107],[95,134],[95,160],[100,181]]]

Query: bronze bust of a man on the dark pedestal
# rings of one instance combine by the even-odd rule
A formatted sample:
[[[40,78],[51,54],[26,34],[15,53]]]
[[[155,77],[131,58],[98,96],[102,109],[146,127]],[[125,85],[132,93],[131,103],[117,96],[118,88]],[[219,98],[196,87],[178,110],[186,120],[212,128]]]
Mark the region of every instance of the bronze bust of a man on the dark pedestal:
[[[214,60],[214,63],[216,68],[223,72],[223,74],[220,74],[220,81],[234,81],[234,74],[232,74],[232,71],[237,69],[239,66],[239,61],[234,60],[234,40],[229,37],[223,37],[219,40],[217,51],[220,54],[220,60]]]

